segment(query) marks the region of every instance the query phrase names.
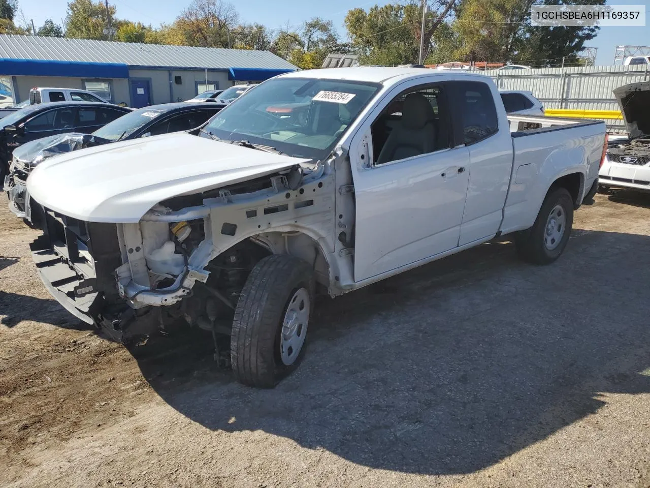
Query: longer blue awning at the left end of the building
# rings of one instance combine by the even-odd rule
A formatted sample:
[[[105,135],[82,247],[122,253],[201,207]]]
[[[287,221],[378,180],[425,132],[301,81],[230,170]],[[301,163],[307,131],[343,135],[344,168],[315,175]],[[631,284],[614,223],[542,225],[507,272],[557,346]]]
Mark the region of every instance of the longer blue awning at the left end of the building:
[[[73,78],[128,78],[122,63],[0,59],[0,75],[70,76]]]

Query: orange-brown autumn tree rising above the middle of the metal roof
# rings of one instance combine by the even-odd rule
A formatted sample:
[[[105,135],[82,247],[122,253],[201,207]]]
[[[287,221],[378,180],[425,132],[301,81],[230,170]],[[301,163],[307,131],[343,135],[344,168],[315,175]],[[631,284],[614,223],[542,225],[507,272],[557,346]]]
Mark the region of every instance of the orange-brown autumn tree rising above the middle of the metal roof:
[[[174,21],[172,29],[183,36],[188,46],[230,47],[230,31],[238,19],[237,10],[229,3],[193,0]]]

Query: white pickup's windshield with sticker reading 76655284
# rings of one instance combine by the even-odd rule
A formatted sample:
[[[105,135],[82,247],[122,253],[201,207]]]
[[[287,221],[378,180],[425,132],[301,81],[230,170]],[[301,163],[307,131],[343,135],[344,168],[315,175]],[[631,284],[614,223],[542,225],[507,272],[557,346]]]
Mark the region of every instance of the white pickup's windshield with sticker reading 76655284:
[[[270,79],[227,105],[204,129],[226,141],[322,159],[380,87],[338,79]]]

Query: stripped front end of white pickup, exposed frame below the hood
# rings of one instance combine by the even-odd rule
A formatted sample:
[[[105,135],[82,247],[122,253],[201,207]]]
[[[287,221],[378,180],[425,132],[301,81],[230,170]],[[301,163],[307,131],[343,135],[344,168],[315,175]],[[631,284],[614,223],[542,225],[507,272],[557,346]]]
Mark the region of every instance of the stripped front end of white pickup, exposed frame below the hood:
[[[114,340],[179,318],[229,334],[239,293],[265,256],[298,256],[329,288],[335,193],[334,172],[318,163],[168,198],[132,223],[83,221],[45,206],[32,256],[52,295]]]

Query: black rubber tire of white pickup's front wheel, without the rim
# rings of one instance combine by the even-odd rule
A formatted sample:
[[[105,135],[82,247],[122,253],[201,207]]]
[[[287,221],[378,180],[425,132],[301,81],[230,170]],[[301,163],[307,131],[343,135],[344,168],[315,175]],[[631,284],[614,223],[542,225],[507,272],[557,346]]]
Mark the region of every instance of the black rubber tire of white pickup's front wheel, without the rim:
[[[230,359],[240,383],[273,388],[300,364],[306,344],[302,343],[296,359],[287,366],[281,359],[280,340],[289,301],[301,288],[309,295],[311,313],[313,270],[307,262],[287,254],[263,258],[248,275],[235,308],[230,336]],[[306,326],[305,323],[305,334]]]

